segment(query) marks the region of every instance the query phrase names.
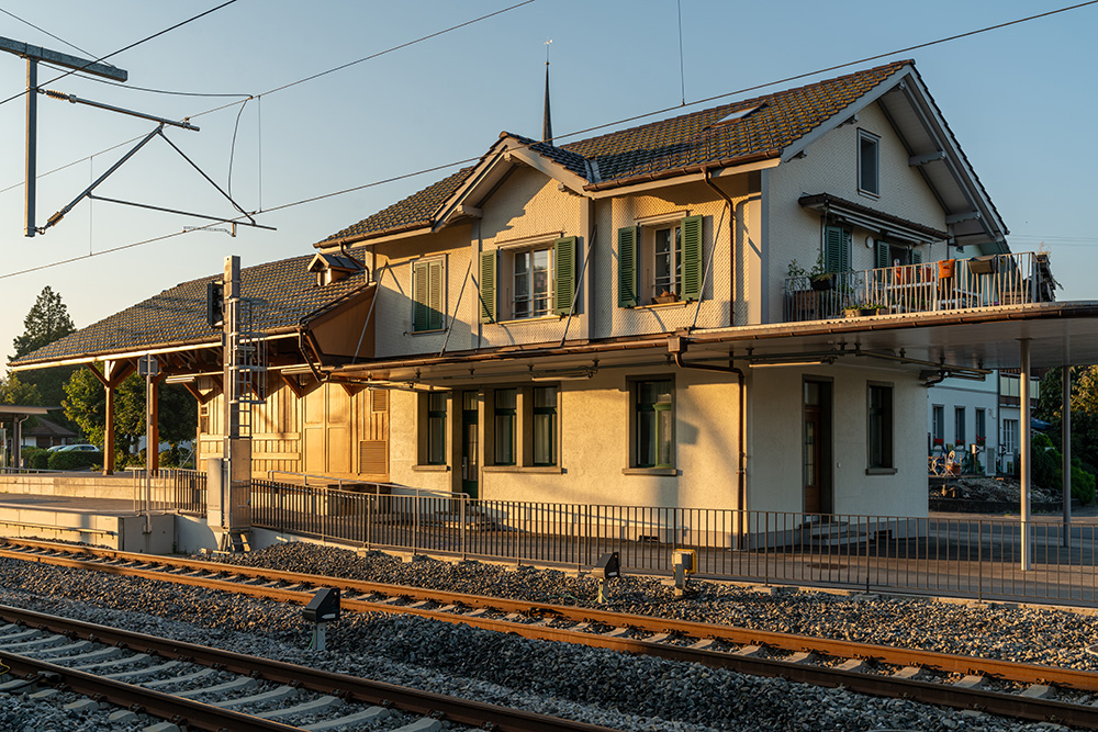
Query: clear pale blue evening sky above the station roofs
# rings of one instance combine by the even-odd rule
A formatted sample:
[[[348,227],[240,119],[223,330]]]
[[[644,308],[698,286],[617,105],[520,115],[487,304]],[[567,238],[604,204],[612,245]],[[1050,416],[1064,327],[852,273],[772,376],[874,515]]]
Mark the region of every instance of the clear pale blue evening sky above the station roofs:
[[[0,36],[98,58],[223,1],[0,0]],[[130,75],[124,86],[76,76],[47,85],[61,71],[40,67],[46,88],[159,117],[190,117],[199,132],[166,127],[166,136],[246,211],[267,212],[257,221],[277,230],[183,234],[209,221],[86,200],[44,235],[27,238],[24,100],[0,103],[0,361],[11,357],[12,339],[44,286],[60,293],[76,326],[85,327],[180,282],[219,273],[228,255],[247,267],[311,254],[314,243],[457,168],[440,167],[478,158],[502,131],[540,136],[549,40],[558,143],[638,124],[569,136],[684,101],[682,112],[696,111],[912,58],[1006,222],[1011,249],[1051,252],[1060,300],[1098,300],[1087,274],[1098,247],[1088,214],[1098,162],[1091,132],[1098,4],[893,53],[1071,3],[522,2],[236,0],[112,56]],[[462,23],[469,24],[382,53]],[[691,105],[877,54],[888,55]],[[0,54],[0,100],[25,85],[25,61]],[[40,95],[38,226],[154,128]],[[287,206],[351,188],[359,190]],[[236,213],[158,138],[97,193],[211,216]],[[177,236],[160,238],[169,235]],[[149,239],[159,240],[109,251]],[[34,268],[42,269],[26,271]]]

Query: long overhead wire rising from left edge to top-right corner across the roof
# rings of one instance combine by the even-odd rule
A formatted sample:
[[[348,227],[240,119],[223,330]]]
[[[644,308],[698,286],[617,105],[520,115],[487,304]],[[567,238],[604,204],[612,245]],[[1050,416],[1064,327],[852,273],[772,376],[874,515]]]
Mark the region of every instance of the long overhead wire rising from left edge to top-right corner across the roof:
[[[527,4],[528,2],[533,2],[533,1],[534,0],[527,0],[527,2],[519,3],[519,5],[513,5],[512,8],[520,7],[522,4]],[[860,59],[856,59],[856,60],[847,61],[847,63],[838,64],[838,65],[834,65],[834,66],[829,66],[829,67],[824,68],[824,69],[817,69],[815,71],[808,71],[806,74],[799,74],[799,75],[796,75],[796,76],[786,77],[784,79],[778,79],[776,81],[770,81],[770,82],[766,82],[766,83],[754,85],[754,86],[746,87],[743,89],[739,89],[739,90],[736,90],[736,91],[730,91],[730,92],[725,92],[725,93],[721,93],[721,94],[716,94],[716,95],[713,95],[713,97],[707,97],[705,99],[699,99],[699,100],[696,100],[696,101],[693,101],[693,102],[688,102],[687,104],[685,104],[685,106],[694,106],[694,105],[697,105],[697,104],[703,104],[703,103],[706,103],[706,102],[712,102],[712,101],[715,101],[715,100],[718,100],[718,99],[725,99],[727,97],[742,94],[742,93],[746,93],[748,91],[755,91],[758,89],[763,89],[763,88],[775,86],[775,85],[778,85],[778,83],[785,83],[785,82],[788,82],[788,81],[793,81],[793,80],[803,79],[803,78],[806,78],[806,77],[816,76],[818,74],[825,74],[827,71],[833,71],[833,70],[837,70],[837,69],[841,69],[841,68],[847,68],[847,67],[854,66],[854,65],[858,65],[858,64],[864,64],[864,63],[870,61],[870,60],[876,60],[876,59],[884,58],[884,57],[887,57],[887,56],[895,56],[895,55],[898,55],[898,54],[908,53],[910,50],[915,50],[915,49],[918,49],[918,48],[926,48],[928,46],[933,46],[933,45],[938,45],[938,44],[942,44],[942,43],[948,43],[950,41],[956,41],[956,40],[960,40],[960,38],[964,38],[964,37],[968,37],[968,36],[972,36],[972,35],[976,35],[978,33],[986,33],[986,32],[989,32],[989,31],[994,31],[994,30],[1007,27],[1007,26],[1010,26],[1010,25],[1017,25],[1019,23],[1024,23],[1024,22],[1038,20],[1038,19],[1041,19],[1041,18],[1046,18],[1049,15],[1054,15],[1056,13],[1067,12],[1069,10],[1076,10],[1076,9],[1079,9],[1079,8],[1085,8],[1087,5],[1094,5],[1094,4],[1098,4],[1098,0],[1088,0],[1087,2],[1082,2],[1082,3],[1074,4],[1074,5],[1068,5],[1066,8],[1060,8],[1057,10],[1052,10],[1052,11],[1047,11],[1047,12],[1044,12],[1044,13],[1039,13],[1039,14],[1035,14],[1035,15],[1029,15],[1027,18],[1022,18],[1022,19],[1018,19],[1018,20],[1013,20],[1013,21],[1008,21],[1008,22],[1004,22],[1004,23],[997,23],[995,25],[989,25],[989,26],[986,26],[986,27],[983,27],[983,29],[978,29],[978,30],[975,30],[975,31],[968,31],[968,32],[965,32],[965,33],[959,33],[959,34],[954,34],[954,35],[946,36],[946,37],[943,37],[943,38],[938,38],[935,41],[929,41],[929,42],[926,42],[926,43],[921,43],[921,44],[917,44],[917,45],[912,45],[912,46],[907,46],[905,48],[899,48],[899,49],[887,52],[887,53],[883,53],[883,54],[876,54],[876,55],[873,55],[873,56],[863,57],[863,58],[860,58]],[[504,12],[504,11],[498,11],[498,12]],[[468,23],[466,23],[466,24],[468,24]],[[434,35],[437,35],[437,34],[434,34]],[[404,44],[404,45],[408,45],[408,44]],[[345,65],[345,66],[347,66],[347,65]],[[300,83],[302,81],[304,81],[304,80],[300,80],[299,82],[293,82],[293,83],[290,83],[290,85],[284,85],[283,87],[280,87],[278,89],[285,89],[285,88],[289,88],[291,86],[294,86],[294,83]],[[272,93],[272,92],[264,92],[264,93],[266,94],[266,93]],[[239,102],[237,102],[237,103],[239,103]],[[215,108],[214,110],[210,110],[208,112],[204,112],[203,114],[208,114],[210,112],[214,112],[214,111],[217,111],[220,109],[225,109],[226,106],[232,106],[232,104],[226,104],[226,105],[222,105],[221,108]],[[579,131],[575,131],[575,132],[572,132],[572,133],[567,133],[564,135],[556,135],[554,137],[557,139],[560,139],[560,138],[563,138],[563,137],[574,137],[576,135],[586,134],[589,132],[593,132],[593,131],[597,131],[597,129],[604,129],[606,127],[616,126],[618,124],[624,124],[624,123],[627,123],[627,122],[634,122],[636,120],[645,119],[645,117],[648,117],[648,116],[654,116],[657,114],[664,114],[666,112],[675,111],[677,109],[680,109],[680,106],[672,106],[672,108],[665,108],[665,109],[661,109],[661,110],[656,110],[653,112],[648,112],[648,113],[639,114],[639,115],[632,115],[632,116],[629,116],[629,117],[617,120],[615,122],[608,122],[608,123],[604,123],[604,124],[601,124],[601,125],[595,125],[595,126],[592,126],[592,127],[586,127],[586,128],[579,129]],[[198,116],[198,115],[193,115],[193,116]],[[125,143],[120,143],[119,145],[116,145],[114,147],[121,147]],[[536,144],[537,143],[533,143],[531,145],[536,145]],[[110,149],[114,149],[114,148],[110,148]],[[85,159],[87,159],[87,158],[85,158]],[[257,212],[254,212],[254,213],[258,214],[258,213],[273,213],[273,212],[277,212],[277,211],[284,211],[287,209],[292,209],[292,207],[295,207],[295,206],[305,205],[307,203],[314,203],[316,201],[323,201],[323,200],[326,200],[326,199],[336,198],[336,196],[339,196],[339,195],[345,195],[347,193],[354,193],[356,191],[362,191],[362,190],[366,190],[366,189],[369,189],[369,188],[377,188],[379,185],[384,185],[386,183],[392,183],[392,182],[395,182],[395,181],[405,180],[405,179],[408,179],[408,178],[414,178],[416,176],[422,176],[422,174],[425,174],[425,173],[428,173],[428,172],[437,172],[439,170],[446,170],[448,168],[455,168],[455,167],[461,166],[461,165],[469,165],[469,164],[472,164],[472,162],[477,162],[480,159],[481,159],[480,156],[475,156],[475,157],[463,158],[461,160],[455,160],[455,161],[451,161],[451,162],[446,162],[446,164],[441,164],[441,165],[437,165],[437,166],[430,166],[428,168],[422,168],[422,169],[415,170],[413,172],[401,173],[401,174],[396,174],[396,176],[390,176],[388,178],[383,178],[383,179],[379,179],[379,180],[376,180],[376,181],[371,181],[369,183],[362,183],[360,185],[352,185],[350,188],[345,188],[345,189],[340,189],[340,190],[337,190],[337,191],[332,191],[332,192],[328,192],[328,193],[321,193],[321,194],[309,196],[309,198],[305,198],[305,199],[300,199],[298,201],[292,201],[290,203],[283,203],[283,204],[280,204],[280,205],[277,205],[277,206],[272,206],[270,209],[257,211]],[[75,165],[75,164],[69,164],[69,165]],[[4,189],[4,190],[8,190],[8,189]],[[0,192],[2,192],[2,191],[0,191]],[[226,219],[226,221],[238,221],[238,219],[240,219],[243,217],[245,217],[245,216],[237,216],[235,218]],[[49,268],[53,268],[53,267],[59,267],[59,266],[63,266],[63,264],[68,264],[68,263],[75,262],[75,261],[80,261],[80,260],[83,260],[83,259],[89,259],[91,257],[98,257],[98,256],[102,256],[102,255],[113,254],[113,252],[116,252],[116,251],[122,251],[124,249],[132,249],[134,247],[141,247],[141,246],[145,246],[147,244],[154,244],[156,241],[163,241],[165,239],[170,239],[170,238],[175,238],[177,236],[181,236],[182,234],[188,234],[191,230],[202,230],[204,228],[213,226],[216,223],[220,223],[220,222],[213,222],[211,224],[208,224],[206,226],[195,227],[194,229],[190,229],[190,230],[172,232],[170,234],[165,234],[163,236],[157,236],[157,237],[153,237],[153,238],[148,238],[148,239],[142,239],[139,241],[133,241],[133,243],[130,243],[130,244],[120,245],[117,247],[111,247],[111,248],[103,249],[103,250],[100,250],[100,251],[94,252],[94,254],[81,255],[79,257],[70,257],[70,258],[67,258],[67,259],[61,259],[61,260],[54,261],[54,262],[48,262],[48,263],[45,263],[45,264],[38,264],[38,266],[35,266],[35,267],[26,268],[26,269],[23,269],[23,270],[18,270],[18,271],[14,271],[14,272],[8,272],[8,273],[4,273],[4,274],[0,274],[0,280],[7,280],[7,279],[10,279],[10,278],[13,278],[13,277],[19,277],[19,275],[22,275],[22,274],[29,274],[31,272],[37,272],[37,271],[42,271],[44,269],[49,269]]]

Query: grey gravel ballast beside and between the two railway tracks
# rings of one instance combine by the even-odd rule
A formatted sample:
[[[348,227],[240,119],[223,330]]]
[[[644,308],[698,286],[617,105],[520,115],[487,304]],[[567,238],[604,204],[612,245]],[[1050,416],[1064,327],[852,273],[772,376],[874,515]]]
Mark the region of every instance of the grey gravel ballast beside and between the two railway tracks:
[[[253,566],[560,604],[593,604],[595,597],[592,579],[561,572],[427,559],[403,563],[380,553],[357,556],[305,543],[232,559]],[[15,560],[0,560],[0,603],[8,605],[623,730],[1053,729],[390,615],[345,615],[329,627],[328,651],[307,653],[309,631],[294,606]],[[1084,615],[906,599],[852,601],[809,592],[760,595],[718,583],[693,586],[694,597],[673,600],[659,581],[625,577],[610,583],[610,593],[615,607],[629,612],[1096,667],[1083,646],[1098,637],[1098,620]],[[30,727],[35,731],[97,729],[90,720],[63,712],[48,717],[27,703],[0,695],[0,720],[18,720],[12,727],[0,721],[0,730],[27,729],[22,721],[26,719],[35,720]]]

